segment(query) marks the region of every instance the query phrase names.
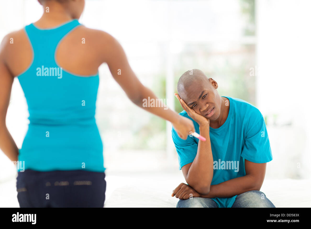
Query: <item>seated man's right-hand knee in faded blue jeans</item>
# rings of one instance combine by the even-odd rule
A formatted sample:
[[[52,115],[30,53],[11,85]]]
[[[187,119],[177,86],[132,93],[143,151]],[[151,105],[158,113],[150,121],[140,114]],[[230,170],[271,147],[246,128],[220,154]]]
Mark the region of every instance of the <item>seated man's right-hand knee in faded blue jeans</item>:
[[[258,190],[251,190],[238,195],[242,208],[275,208],[266,195]]]

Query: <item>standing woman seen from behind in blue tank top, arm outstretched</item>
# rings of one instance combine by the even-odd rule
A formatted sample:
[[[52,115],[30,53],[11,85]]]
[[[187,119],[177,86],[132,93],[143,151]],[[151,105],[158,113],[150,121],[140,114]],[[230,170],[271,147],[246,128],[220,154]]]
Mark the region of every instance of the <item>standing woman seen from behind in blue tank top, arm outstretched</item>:
[[[42,17],[4,37],[0,50],[0,148],[18,169],[20,207],[103,207],[103,145],[95,123],[98,67],[107,63],[128,98],[172,122],[183,139],[193,122],[164,107],[133,73],[120,44],[78,22],[84,0],[39,0]],[[19,150],[5,125],[14,77],[29,109],[29,128]],[[112,98],[113,99],[113,98]]]

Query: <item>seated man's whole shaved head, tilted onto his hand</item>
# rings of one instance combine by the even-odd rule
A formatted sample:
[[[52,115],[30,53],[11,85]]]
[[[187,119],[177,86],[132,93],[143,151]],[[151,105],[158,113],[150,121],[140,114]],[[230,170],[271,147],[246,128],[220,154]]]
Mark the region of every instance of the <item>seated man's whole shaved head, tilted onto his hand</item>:
[[[191,69],[179,78],[177,92],[179,97],[196,113],[216,120],[220,116],[221,98],[217,92],[218,84],[199,69]],[[208,116],[211,109],[214,110]]]

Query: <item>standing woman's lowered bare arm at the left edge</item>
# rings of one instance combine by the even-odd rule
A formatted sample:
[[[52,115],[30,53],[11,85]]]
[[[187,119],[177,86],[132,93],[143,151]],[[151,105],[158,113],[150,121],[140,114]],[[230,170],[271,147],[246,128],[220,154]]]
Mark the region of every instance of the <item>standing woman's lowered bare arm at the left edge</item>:
[[[0,45],[0,149],[11,161],[18,160],[18,148],[7,130],[5,123],[7,107],[14,77],[5,63],[5,50],[8,44],[8,36],[4,37]]]

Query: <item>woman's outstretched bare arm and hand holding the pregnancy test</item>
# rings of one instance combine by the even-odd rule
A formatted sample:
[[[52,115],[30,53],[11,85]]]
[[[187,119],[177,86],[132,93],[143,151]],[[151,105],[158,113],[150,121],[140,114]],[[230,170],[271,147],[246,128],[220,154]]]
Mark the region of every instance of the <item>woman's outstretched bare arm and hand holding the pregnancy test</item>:
[[[119,42],[107,33],[103,32],[102,36],[102,61],[108,64],[112,76],[127,94],[128,98],[144,110],[171,122],[182,139],[186,139],[190,131],[194,132],[193,122],[186,117],[178,115],[171,109],[164,106],[143,106],[143,99],[148,100],[149,97],[156,100],[156,95],[136,77]]]

